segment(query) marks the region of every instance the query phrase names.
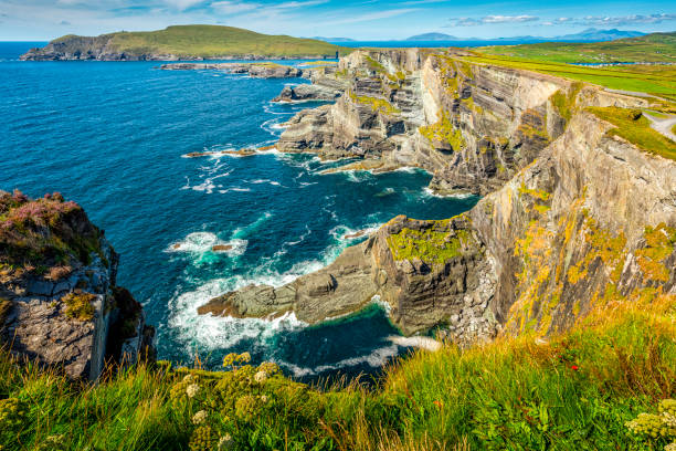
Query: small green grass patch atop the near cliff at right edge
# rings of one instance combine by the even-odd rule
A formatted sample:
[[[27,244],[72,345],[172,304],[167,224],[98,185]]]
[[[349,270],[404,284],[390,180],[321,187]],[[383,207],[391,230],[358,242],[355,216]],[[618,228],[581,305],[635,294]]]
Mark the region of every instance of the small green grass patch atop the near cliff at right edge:
[[[641,111],[610,107],[589,107],[596,117],[615,126],[609,134],[620,136],[651,154],[676,160],[676,143],[651,127]]]

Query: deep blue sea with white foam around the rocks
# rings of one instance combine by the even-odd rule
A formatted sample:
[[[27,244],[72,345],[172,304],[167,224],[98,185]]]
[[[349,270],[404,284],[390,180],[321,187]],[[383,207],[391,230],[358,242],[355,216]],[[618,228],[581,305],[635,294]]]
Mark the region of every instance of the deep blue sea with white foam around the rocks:
[[[0,189],[61,191],[122,254],[118,283],[157,325],[160,358],[211,367],[229,352],[299,377],[372,373],[405,349],[377,304],[331,324],[199,317],[249,283],[282,284],[330,263],[351,231],[395,214],[446,218],[474,199],[434,198],[430,175],[321,176],[310,155],[183,158],[276,140],[302,106],[270,102],[285,83],[157,63],[20,62],[33,43],[0,43]],[[231,243],[233,251],[211,247]]]

